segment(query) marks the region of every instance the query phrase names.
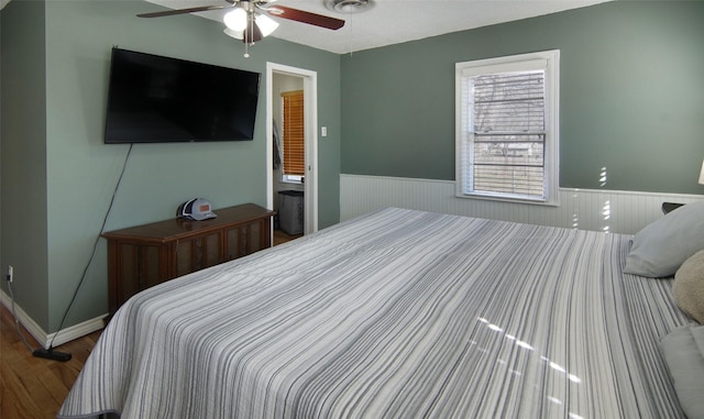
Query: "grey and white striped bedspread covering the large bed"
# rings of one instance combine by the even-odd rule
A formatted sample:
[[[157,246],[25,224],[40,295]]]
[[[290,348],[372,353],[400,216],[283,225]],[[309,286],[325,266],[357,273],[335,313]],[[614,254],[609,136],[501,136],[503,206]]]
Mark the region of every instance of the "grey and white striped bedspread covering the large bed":
[[[59,418],[678,418],[629,236],[385,209],[153,287]]]

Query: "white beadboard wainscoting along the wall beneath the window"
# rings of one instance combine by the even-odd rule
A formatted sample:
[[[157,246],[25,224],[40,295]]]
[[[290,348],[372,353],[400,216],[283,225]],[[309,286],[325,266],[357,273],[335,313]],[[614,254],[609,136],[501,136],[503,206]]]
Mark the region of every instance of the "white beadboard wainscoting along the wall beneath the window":
[[[340,219],[385,207],[635,234],[662,217],[662,202],[690,203],[702,195],[560,189],[559,207],[457,198],[454,181],[340,175]]]

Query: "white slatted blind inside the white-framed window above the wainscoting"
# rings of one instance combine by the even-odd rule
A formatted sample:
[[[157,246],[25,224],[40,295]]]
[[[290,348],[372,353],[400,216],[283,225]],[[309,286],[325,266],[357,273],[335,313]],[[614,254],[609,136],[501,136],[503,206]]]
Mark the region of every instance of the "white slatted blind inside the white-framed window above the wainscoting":
[[[544,70],[471,78],[474,191],[543,199]]]

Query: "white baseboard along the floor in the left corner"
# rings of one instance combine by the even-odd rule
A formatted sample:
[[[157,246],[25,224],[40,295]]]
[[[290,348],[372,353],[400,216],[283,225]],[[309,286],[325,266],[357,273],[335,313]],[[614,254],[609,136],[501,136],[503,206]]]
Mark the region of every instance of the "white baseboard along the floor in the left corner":
[[[12,299],[3,290],[0,290],[0,302],[9,310],[12,311]],[[14,312],[16,313],[18,321],[26,331],[36,340],[43,348],[48,348],[53,342],[53,346],[62,345],[66,342],[70,342],[75,339],[90,334],[97,330],[105,328],[105,319],[108,315],[97,317],[95,319],[86,320],[78,324],[74,324],[69,328],[62,329],[55,333],[46,333],[35,321],[32,319],[22,307],[14,305]]]

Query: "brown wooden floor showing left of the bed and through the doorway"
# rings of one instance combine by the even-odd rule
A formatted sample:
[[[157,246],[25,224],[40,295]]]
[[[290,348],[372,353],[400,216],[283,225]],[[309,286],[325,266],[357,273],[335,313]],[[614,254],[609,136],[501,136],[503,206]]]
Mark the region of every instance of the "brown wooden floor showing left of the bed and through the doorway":
[[[276,230],[274,245],[296,238]],[[11,311],[0,307],[0,418],[55,418],[101,331],[57,346],[56,351],[72,354],[68,362],[34,357],[19,335]],[[40,348],[22,326],[20,330],[33,349]]]

